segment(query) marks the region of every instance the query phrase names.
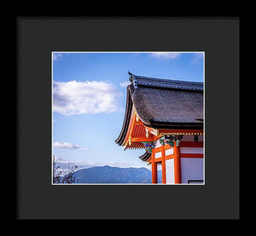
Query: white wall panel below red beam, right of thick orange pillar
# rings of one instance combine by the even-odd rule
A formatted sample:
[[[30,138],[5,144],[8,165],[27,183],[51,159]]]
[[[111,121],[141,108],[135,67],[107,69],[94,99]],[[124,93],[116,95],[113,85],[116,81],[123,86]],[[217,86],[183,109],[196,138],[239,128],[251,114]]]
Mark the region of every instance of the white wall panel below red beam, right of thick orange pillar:
[[[204,158],[181,158],[182,183],[189,180],[203,180]]]

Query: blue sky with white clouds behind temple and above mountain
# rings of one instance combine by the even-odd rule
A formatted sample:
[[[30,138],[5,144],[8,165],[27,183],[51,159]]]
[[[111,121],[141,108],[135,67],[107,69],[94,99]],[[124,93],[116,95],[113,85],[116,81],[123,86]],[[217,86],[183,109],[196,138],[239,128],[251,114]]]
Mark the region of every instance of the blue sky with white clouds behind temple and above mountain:
[[[114,141],[125,116],[128,71],[203,82],[202,53],[63,53],[52,55],[53,154],[79,169],[111,165],[146,167],[143,150]]]

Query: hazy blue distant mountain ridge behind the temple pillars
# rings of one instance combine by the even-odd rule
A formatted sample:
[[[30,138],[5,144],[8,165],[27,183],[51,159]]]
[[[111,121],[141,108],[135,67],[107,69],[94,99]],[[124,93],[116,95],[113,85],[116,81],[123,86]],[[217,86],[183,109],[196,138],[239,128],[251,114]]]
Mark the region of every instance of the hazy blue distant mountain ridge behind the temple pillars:
[[[161,171],[160,171],[161,172]],[[161,177],[161,174],[159,175]],[[151,171],[146,168],[119,168],[108,165],[77,170],[76,183],[151,183]],[[159,181],[161,178],[159,178]]]

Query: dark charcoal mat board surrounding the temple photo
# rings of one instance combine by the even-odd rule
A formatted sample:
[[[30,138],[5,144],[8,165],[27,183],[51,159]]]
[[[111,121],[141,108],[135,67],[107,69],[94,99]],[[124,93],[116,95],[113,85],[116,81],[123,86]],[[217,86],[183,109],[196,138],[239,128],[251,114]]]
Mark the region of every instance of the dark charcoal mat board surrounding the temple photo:
[[[16,219],[239,220],[240,17],[17,17],[16,30]],[[76,50],[205,51],[205,185],[50,184],[50,55]]]

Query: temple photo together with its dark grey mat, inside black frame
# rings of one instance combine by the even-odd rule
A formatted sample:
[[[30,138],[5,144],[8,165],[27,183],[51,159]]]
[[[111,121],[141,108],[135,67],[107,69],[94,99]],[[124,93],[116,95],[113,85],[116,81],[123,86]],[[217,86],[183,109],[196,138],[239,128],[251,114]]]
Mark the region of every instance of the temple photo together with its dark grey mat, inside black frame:
[[[239,17],[18,17],[17,219],[239,219],[239,52]]]

